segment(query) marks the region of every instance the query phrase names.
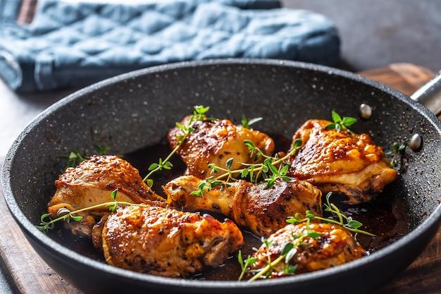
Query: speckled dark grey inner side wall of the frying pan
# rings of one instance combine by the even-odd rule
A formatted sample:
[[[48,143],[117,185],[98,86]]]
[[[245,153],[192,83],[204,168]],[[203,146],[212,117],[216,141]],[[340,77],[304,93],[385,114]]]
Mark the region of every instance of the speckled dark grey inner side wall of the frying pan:
[[[11,163],[13,195],[32,223],[39,221],[63,167],[57,157],[93,145],[126,154],[160,142],[192,106],[210,106],[210,115],[239,122],[263,117],[259,130],[291,137],[309,118],[330,119],[330,111],[359,118],[359,105],[373,116],[352,130],[369,133],[389,149],[420,133],[419,152],[406,149],[400,176],[387,188],[404,203],[410,228],[424,221],[441,195],[440,131],[410,104],[380,87],[348,80],[332,70],[268,64],[205,64],[139,73],[107,83],[58,104],[28,128]],[[146,163],[148,164],[148,163]],[[61,240],[61,239],[58,239]]]

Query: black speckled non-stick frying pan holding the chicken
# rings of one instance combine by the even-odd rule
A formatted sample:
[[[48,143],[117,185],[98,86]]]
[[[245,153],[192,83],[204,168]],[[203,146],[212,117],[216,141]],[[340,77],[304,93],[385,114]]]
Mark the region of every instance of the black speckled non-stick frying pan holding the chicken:
[[[435,88],[422,90],[428,105],[435,101]],[[359,121],[355,131],[371,133],[385,149],[416,133],[423,142],[417,152],[406,149],[406,171],[389,189],[404,202],[411,232],[362,259],[271,281],[194,281],[111,267],[69,250],[35,228],[62,167],[56,157],[67,150],[91,154],[93,145],[105,143],[116,154],[124,154],[153,145],[197,104],[211,106],[211,116],[233,121],[242,114],[262,116],[259,129],[291,137],[309,118],[328,119],[332,109],[358,116],[362,103],[371,106],[373,114]],[[436,102],[430,107],[436,110]],[[368,293],[408,266],[437,231],[440,147],[441,123],[426,107],[353,73],[262,59],[184,62],[104,80],[46,109],[13,143],[2,186],[11,214],[32,247],[86,293]]]

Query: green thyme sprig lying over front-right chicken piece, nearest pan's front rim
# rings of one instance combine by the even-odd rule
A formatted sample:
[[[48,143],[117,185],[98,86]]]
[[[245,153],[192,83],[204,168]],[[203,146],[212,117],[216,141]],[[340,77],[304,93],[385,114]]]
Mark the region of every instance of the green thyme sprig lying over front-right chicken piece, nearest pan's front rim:
[[[297,270],[298,265],[297,264],[290,264],[291,259],[294,257],[294,255],[297,253],[297,248],[304,244],[305,238],[319,238],[321,236],[321,233],[318,233],[317,231],[311,230],[310,222],[311,219],[313,219],[313,216],[311,214],[306,215],[306,226],[305,230],[302,234],[299,235],[292,235],[292,242],[286,243],[285,246],[282,249],[282,252],[280,252],[280,256],[274,260],[271,259],[271,252],[270,247],[273,246],[273,243],[268,241],[265,238],[262,238],[262,244],[265,247],[266,250],[266,266],[262,267],[261,269],[251,270],[250,267],[257,262],[256,257],[250,257],[248,256],[247,259],[245,259],[245,262],[242,260],[242,253],[239,252],[239,255],[237,255],[237,260],[240,264],[240,267],[242,269],[242,272],[239,276],[239,281],[242,280],[245,274],[256,272],[254,276],[252,276],[248,281],[256,281],[261,276],[265,276],[265,278],[269,278],[271,276],[271,272],[273,271],[273,268],[279,264],[280,262],[285,262],[285,274],[292,275],[295,274],[295,271]]]

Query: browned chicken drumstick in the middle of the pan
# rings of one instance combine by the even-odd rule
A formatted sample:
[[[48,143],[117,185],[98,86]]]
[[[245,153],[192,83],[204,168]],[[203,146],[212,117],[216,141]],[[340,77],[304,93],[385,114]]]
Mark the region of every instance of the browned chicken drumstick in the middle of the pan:
[[[276,181],[273,188],[245,180],[216,187],[202,196],[190,195],[201,183],[194,176],[181,176],[163,186],[167,202],[191,211],[206,210],[230,217],[239,226],[248,227],[259,236],[268,236],[286,225],[288,216],[311,210],[321,215],[321,192],[302,180]]]

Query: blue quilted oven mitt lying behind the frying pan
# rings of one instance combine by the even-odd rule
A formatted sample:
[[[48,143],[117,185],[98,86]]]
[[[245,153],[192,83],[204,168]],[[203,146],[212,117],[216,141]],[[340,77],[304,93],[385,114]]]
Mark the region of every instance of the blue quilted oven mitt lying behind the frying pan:
[[[278,8],[278,0],[39,0],[26,25],[15,22],[19,5],[0,0],[0,76],[18,92],[82,87],[176,61],[247,57],[332,65],[339,58],[333,23]]]

